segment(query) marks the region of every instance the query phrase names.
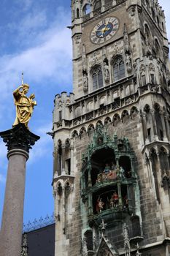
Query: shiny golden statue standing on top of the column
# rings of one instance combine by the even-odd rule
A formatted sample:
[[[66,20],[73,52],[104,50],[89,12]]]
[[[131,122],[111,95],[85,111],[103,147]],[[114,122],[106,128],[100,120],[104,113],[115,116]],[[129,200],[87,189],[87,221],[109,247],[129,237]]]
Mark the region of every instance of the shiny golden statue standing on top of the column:
[[[16,106],[16,118],[13,127],[21,123],[25,124],[28,128],[28,121],[32,116],[34,106],[36,105],[36,101],[34,101],[35,94],[26,97],[28,89],[28,84],[24,83],[13,92]]]

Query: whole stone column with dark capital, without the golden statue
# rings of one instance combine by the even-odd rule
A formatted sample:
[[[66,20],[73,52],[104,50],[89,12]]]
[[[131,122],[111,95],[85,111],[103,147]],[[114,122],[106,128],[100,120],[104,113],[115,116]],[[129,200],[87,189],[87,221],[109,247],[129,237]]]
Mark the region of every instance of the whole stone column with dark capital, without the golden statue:
[[[7,157],[9,159],[1,221],[0,256],[20,256],[26,161],[29,149],[36,140],[39,140],[39,136],[26,129],[23,124],[0,132],[0,136],[7,143]]]

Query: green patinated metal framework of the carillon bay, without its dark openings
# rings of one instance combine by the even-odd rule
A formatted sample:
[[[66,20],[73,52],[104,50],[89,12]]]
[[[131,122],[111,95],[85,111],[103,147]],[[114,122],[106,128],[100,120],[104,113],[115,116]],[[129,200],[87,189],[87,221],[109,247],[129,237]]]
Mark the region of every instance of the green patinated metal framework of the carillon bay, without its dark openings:
[[[107,150],[111,148],[114,151],[114,157],[116,165],[119,165],[120,157],[128,157],[131,161],[131,177],[125,178],[125,176],[120,176],[117,174],[115,179],[105,179],[101,180],[99,183],[92,184],[91,181],[91,170],[92,170],[92,157],[100,150]],[[99,225],[101,218],[106,222],[117,222],[125,219],[125,217],[130,216],[134,211],[136,206],[135,203],[135,190],[136,190],[136,171],[135,171],[135,154],[130,146],[128,138],[117,138],[117,135],[110,136],[107,133],[107,128],[101,125],[96,127],[93,134],[93,140],[88,144],[87,151],[82,154],[82,203],[88,203],[88,224],[91,226],[94,222]],[[121,195],[121,187],[127,188],[129,205],[128,208],[123,208],[123,201]],[[93,212],[93,195],[96,195],[103,189],[107,192],[112,192],[111,187],[117,187],[117,192],[119,195],[119,206],[113,209],[105,209],[98,214]]]

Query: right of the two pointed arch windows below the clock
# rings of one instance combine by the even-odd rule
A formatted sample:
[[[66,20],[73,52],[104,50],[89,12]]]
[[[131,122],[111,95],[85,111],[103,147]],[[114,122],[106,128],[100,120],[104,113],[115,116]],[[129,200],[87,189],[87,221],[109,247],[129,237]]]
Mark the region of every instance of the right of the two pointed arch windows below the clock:
[[[117,57],[113,63],[114,80],[120,80],[125,77],[125,64],[121,56]]]

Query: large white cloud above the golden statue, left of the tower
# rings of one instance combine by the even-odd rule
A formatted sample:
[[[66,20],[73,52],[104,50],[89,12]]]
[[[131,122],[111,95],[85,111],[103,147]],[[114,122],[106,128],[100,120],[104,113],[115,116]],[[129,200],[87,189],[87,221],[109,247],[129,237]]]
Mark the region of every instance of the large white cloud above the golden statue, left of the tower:
[[[12,100],[12,91],[20,84],[20,74],[23,71],[31,83],[39,83],[39,89],[44,81],[50,80],[49,87],[54,83],[70,84],[72,77],[72,44],[71,34],[66,25],[69,23],[69,17],[62,9],[58,10],[56,22],[43,30],[40,29],[36,34],[36,46],[19,50],[19,53],[4,55],[0,58],[0,108],[1,116],[7,111],[10,112]],[[34,17],[23,28],[31,28],[38,22],[43,15]],[[63,19],[65,17],[65,20]],[[67,18],[66,18],[67,17]],[[60,26],[59,26],[60,23]],[[23,29],[22,28],[22,29]],[[22,37],[21,37],[22,39]],[[30,39],[30,38],[29,38]],[[66,75],[67,74],[67,75]],[[10,99],[10,103],[9,103]],[[4,112],[5,111],[5,112]]]

